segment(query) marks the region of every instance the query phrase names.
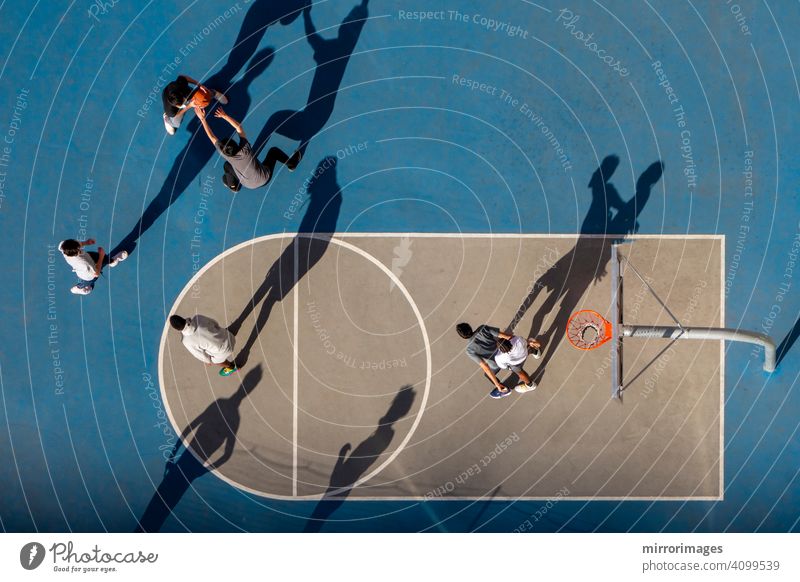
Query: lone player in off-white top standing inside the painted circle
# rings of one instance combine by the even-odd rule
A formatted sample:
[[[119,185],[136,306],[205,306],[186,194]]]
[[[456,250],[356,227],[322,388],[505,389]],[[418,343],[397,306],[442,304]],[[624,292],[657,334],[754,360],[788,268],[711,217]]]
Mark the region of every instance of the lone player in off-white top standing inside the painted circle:
[[[181,343],[195,358],[207,366],[221,366],[220,376],[230,376],[236,371],[233,362],[234,335],[205,315],[183,318],[172,315],[169,324],[183,336]]]

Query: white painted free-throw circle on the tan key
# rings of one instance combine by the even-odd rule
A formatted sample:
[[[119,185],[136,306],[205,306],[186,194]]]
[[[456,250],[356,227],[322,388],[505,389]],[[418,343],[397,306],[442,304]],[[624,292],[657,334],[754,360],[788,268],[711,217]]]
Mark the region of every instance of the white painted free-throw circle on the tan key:
[[[203,267],[201,267],[194,274],[194,276],[186,283],[184,288],[178,294],[178,296],[176,297],[175,301],[172,304],[173,308],[174,308],[174,306],[179,305],[181,301],[183,301],[183,298],[186,296],[186,294],[189,292],[189,290],[192,288],[192,286],[194,286],[195,283],[197,283],[200,280],[200,277],[202,277],[203,274],[205,274],[206,271],[208,271],[211,267],[216,265],[219,261],[221,261],[222,259],[224,259],[226,256],[228,256],[230,254],[233,254],[233,253],[235,253],[235,252],[237,252],[237,251],[239,251],[241,249],[244,249],[246,247],[249,247],[249,246],[261,243],[261,242],[265,242],[265,241],[268,241],[268,240],[282,239],[282,238],[296,238],[296,237],[314,239],[314,238],[320,238],[322,236],[323,235],[321,233],[297,233],[297,234],[294,234],[294,233],[283,232],[283,233],[277,233],[277,234],[270,234],[270,235],[266,235],[266,236],[261,236],[261,237],[257,237],[257,238],[254,238],[254,239],[239,243],[238,245],[235,245],[235,246],[223,251],[221,254],[217,255],[216,257],[211,259],[208,263],[203,265]],[[422,334],[422,341],[425,344],[425,364],[426,364],[425,388],[424,388],[423,393],[422,393],[422,401],[420,403],[419,410],[417,411],[416,418],[414,419],[414,422],[412,423],[411,427],[409,428],[409,431],[408,431],[408,434],[406,434],[406,437],[400,442],[400,444],[389,455],[389,457],[383,463],[378,465],[375,469],[373,469],[372,471],[370,471],[366,475],[362,476],[360,479],[358,479],[352,485],[349,485],[347,487],[342,487],[340,489],[336,489],[336,490],[331,491],[331,492],[328,493],[328,496],[333,496],[333,495],[339,495],[339,494],[341,494],[341,493],[343,493],[345,491],[349,491],[350,489],[354,489],[354,488],[358,487],[359,485],[361,485],[361,484],[367,482],[368,480],[372,479],[375,475],[377,475],[378,473],[383,471],[383,469],[385,469],[390,463],[392,463],[401,452],[403,452],[405,447],[408,445],[408,442],[411,440],[411,437],[414,436],[414,433],[416,432],[417,427],[419,427],[419,423],[422,421],[422,415],[424,414],[425,407],[427,406],[427,403],[428,403],[428,397],[430,395],[430,390],[431,390],[431,379],[432,379],[432,371],[433,371],[432,370],[432,368],[433,368],[432,359],[433,358],[431,356],[431,342],[430,342],[430,338],[428,337],[428,330],[425,327],[425,320],[422,317],[422,313],[420,312],[419,307],[414,302],[414,298],[411,296],[411,293],[409,293],[408,289],[403,284],[403,282],[400,280],[400,278],[397,275],[395,275],[394,273],[392,273],[392,271],[391,271],[391,269],[389,269],[389,267],[384,265],[382,262],[380,262],[377,258],[375,258],[371,254],[369,254],[364,249],[362,249],[360,247],[357,247],[357,246],[355,246],[353,244],[350,244],[348,242],[345,242],[343,240],[338,240],[338,239],[330,236],[329,233],[326,233],[326,235],[324,235],[324,236],[325,236],[325,238],[327,238],[330,241],[330,243],[338,245],[338,246],[340,246],[342,248],[345,248],[345,249],[347,249],[347,250],[349,250],[349,251],[351,251],[351,252],[353,252],[353,253],[355,253],[357,255],[360,255],[365,259],[367,259],[370,263],[374,264],[381,271],[383,271],[383,273],[394,282],[395,286],[400,290],[400,292],[406,298],[406,301],[408,301],[409,305],[411,306],[411,310],[414,312],[414,315],[417,318],[417,322],[419,323],[420,333]],[[388,237],[388,236],[397,236],[397,235],[388,234],[387,233],[387,234],[384,234],[383,236],[387,236]],[[295,251],[295,257],[296,257],[296,260],[299,260],[299,257],[297,257],[296,251]],[[295,265],[297,266],[297,263],[295,263]],[[297,282],[295,282],[294,291],[295,291],[295,293],[297,292]],[[295,301],[295,310],[296,310],[296,308],[297,308],[297,301]],[[295,311],[295,315],[296,314],[297,314],[297,312]],[[172,315],[172,310],[170,310],[170,314],[169,315]],[[167,400],[167,394],[166,394],[166,391],[164,389],[165,383],[164,383],[163,369],[164,369],[164,353],[165,353],[165,347],[166,347],[166,342],[167,342],[167,333],[169,331],[168,321],[169,321],[169,317],[167,317],[167,323],[165,323],[164,330],[161,332],[161,342],[160,342],[160,345],[159,345],[159,352],[158,352],[158,381],[160,383],[161,400],[162,400],[162,402],[164,404],[164,409],[166,410],[167,417],[169,418],[170,423],[172,424],[172,427],[177,431],[177,434],[180,435],[183,431],[180,428],[178,428],[178,423],[175,421],[175,417],[172,414],[172,410],[171,410],[171,408],[169,406],[169,401]],[[297,345],[297,340],[295,338],[295,346],[296,345]],[[297,348],[295,347],[295,350],[296,349]],[[297,361],[297,359],[295,359],[295,362],[296,361]],[[297,364],[295,363],[295,365],[297,365]],[[296,375],[295,375],[295,378],[297,378]],[[297,383],[296,379],[295,379],[295,383]],[[299,388],[298,388],[298,392],[299,392]],[[295,398],[295,403],[296,402],[297,402],[297,398]],[[296,411],[297,411],[297,407],[296,407],[296,404],[295,404],[295,412],[294,412],[295,414],[297,413]],[[293,432],[295,433],[295,435],[296,435],[296,431],[297,431],[297,422],[294,423],[294,428],[293,428]],[[294,444],[294,451],[296,452],[297,451],[297,438],[296,438],[296,436],[294,438],[294,443],[293,444]],[[186,445],[186,443],[184,443],[184,446],[185,445]],[[188,450],[192,455],[194,455],[194,457],[201,464],[203,463],[203,461],[197,456],[197,454],[192,449],[187,447],[186,450]],[[267,494],[267,493],[265,493],[263,491],[258,491],[256,489],[251,488],[251,487],[247,487],[245,485],[237,483],[233,479],[231,479],[231,478],[219,473],[217,470],[212,470],[210,472],[213,473],[217,478],[219,478],[222,481],[228,483],[229,485],[232,485],[233,487],[236,487],[237,489],[240,489],[242,491],[246,491],[248,493],[252,493],[253,495],[258,495],[259,497],[267,497],[267,498],[270,498],[270,499],[286,499],[286,500],[293,500],[293,499],[303,499],[303,500],[322,499],[324,497],[323,494],[319,494],[319,495],[299,495],[299,496],[296,494],[296,484],[297,484],[296,466],[297,466],[297,463],[295,462],[294,463],[294,467],[293,467],[293,477],[294,477],[294,479],[293,479],[293,495],[291,495],[291,496],[289,496],[289,495]],[[364,499],[365,501],[367,500],[367,498],[361,498],[361,499]],[[375,497],[375,499],[381,500],[381,499],[386,499],[386,498]],[[407,499],[407,498],[401,498],[401,499]]]

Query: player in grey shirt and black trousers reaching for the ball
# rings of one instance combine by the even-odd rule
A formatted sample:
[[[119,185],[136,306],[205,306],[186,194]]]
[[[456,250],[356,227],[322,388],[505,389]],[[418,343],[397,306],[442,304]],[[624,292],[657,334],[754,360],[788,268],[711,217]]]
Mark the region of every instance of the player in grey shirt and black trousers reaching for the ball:
[[[259,162],[253,151],[253,146],[247,141],[247,135],[242,129],[242,125],[225,113],[222,107],[214,111],[214,116],[224,119],[233,126],[239,136],[238,143],[235,137],[230,137],[226,140],[217,139],[217,136],[211,131],[205,112],[200,108],[196,108],[195,111],[203,124],[203,128],[206,130],[208,139],[211,140],[220,155],[225,158],[225,165],[223,166],[225,175],[222,176],[222,183],[233,192],[238,192],[242,186],[253,189],[267,184],[272,179],[272,173],[277,162],[285,164],[290,172],[293,172],[300,163],[302,154],[299,150],[292,157],[289,157],[283,150],[274,147],[269,149],[264,162]]]

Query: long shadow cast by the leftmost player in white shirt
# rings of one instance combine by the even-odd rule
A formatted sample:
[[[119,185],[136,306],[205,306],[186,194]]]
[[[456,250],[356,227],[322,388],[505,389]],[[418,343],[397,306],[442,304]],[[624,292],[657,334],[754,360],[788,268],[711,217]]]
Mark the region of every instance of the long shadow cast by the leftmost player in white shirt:
[[[225,111],[234,119],[244,118],[252,102],[248,88],[266,70],[274,55],[275,51],[272,48],[260,51],[253,57],[242,79],[228,91],[230,104],[225,106]],[[195,178],[200,175],[200,172],[214,156],[216,150],[206,137],[197,117],[192,113],[187,113],[186,115],[192,115],[192,119],[188,123],[192,138],[183,146],[183,149],[175,158],[167,179],[162,184],[158,194],[147,205],[144,213],[131,231],[111,251],[110,256],[113,257],[120,251],[132,253],[139,238],[192,185]],[[233,128],[231,128],[232,131]]]

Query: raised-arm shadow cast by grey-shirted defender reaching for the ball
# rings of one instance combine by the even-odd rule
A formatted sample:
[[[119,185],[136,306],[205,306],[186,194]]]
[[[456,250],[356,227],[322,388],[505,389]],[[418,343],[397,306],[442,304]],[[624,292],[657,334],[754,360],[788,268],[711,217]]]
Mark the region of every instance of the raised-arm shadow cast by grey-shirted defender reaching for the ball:
[[[303,11],[307,40],[317,63],[306,106],[300,111],[285,109],[273,113],[253,142],[256,152],[264,147],[273,133],[277,133],[297,140],[297,149],[305,153],[311,138],[325,126],[333,113],[336,94],[347,63],[369,15],[368,2],[369,0],[362,0],[361,4],[350,11],[339,25],[338,34],[332,39],[322,38],[317,33],[311,21],[310,7]]]

